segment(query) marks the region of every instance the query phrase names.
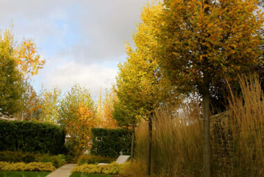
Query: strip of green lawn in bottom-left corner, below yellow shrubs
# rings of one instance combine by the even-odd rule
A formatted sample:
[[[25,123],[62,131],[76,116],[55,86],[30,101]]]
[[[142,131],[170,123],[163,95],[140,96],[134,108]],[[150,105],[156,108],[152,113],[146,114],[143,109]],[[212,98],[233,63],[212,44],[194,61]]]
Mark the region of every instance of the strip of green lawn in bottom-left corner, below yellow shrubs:
[[[35,171],[0,171],[0,177],[44,177],[50,172]]]

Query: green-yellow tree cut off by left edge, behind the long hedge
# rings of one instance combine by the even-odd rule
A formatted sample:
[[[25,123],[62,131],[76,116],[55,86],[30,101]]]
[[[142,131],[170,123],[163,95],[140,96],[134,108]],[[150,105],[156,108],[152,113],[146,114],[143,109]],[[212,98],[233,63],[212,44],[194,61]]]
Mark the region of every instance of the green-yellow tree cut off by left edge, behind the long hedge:
[[[23,79],[17,68],[15,43],[9,31],[0,33],[0,112],[14,115],[22,110]]]

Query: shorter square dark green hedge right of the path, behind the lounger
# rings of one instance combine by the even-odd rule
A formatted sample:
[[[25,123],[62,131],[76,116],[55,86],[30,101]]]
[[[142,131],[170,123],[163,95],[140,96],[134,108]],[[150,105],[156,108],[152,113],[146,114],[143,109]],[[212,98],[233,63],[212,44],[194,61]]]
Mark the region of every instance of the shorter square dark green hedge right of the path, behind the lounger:
[[[92,128],[93,155],[117,158],[120,151],[129,155],[131,150],[131,130]]]

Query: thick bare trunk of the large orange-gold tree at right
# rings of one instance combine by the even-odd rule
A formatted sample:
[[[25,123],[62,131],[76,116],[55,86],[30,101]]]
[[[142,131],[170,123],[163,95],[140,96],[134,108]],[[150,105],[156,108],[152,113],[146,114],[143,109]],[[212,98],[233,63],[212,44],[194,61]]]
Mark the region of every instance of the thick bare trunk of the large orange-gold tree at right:
[[[204,177],[211,176],[211,141],[210,141],[210,93],[209,87],[206,87],[203,94],[203,143],[204,143]]]

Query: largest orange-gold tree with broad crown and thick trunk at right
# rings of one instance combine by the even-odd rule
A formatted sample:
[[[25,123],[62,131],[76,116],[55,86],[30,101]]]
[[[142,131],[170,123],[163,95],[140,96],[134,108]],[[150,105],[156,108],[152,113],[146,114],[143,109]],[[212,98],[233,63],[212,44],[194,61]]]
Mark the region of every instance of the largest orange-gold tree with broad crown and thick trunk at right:
[[[204,176],[210,166],[210,96],[220,80],[236,81],[263,65],[263,14],[258,1],[166,0],[143,9],[143,53],[156,58],[179,92],[195,90],[203,101]],[[160,9],[156,13],[154,9]],[[145,49],[144,49],[145,48]],[[148,174],[149,175],[149,174]]]

